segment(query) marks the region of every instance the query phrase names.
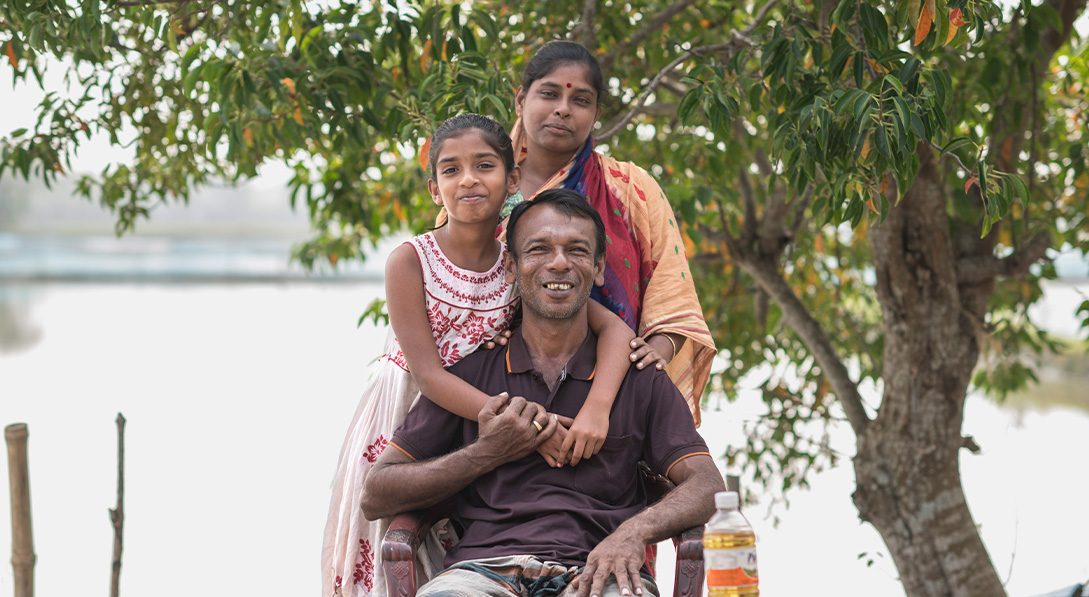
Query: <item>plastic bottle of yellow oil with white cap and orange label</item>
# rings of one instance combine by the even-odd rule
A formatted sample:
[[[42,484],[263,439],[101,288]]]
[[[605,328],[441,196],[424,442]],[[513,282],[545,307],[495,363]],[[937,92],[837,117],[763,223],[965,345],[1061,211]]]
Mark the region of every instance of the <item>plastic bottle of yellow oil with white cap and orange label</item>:
[[[756,534],[737,505],[736,491],[714,495],[719,511],[703,531],[703,570],[710,597],[760,595]]]

